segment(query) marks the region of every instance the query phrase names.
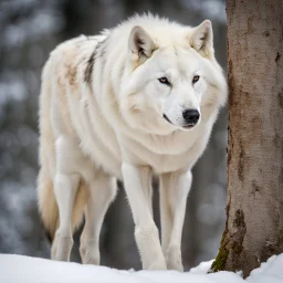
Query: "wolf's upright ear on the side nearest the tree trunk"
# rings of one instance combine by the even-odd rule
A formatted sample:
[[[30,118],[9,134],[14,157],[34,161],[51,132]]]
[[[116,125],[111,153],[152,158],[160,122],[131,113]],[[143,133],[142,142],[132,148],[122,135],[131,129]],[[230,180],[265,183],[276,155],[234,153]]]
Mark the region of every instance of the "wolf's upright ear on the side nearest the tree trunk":
[[[200,25],[193,28],[189,35],[190,45],[202,56],[213,56],[213,33],[211,21],[205,20]]]

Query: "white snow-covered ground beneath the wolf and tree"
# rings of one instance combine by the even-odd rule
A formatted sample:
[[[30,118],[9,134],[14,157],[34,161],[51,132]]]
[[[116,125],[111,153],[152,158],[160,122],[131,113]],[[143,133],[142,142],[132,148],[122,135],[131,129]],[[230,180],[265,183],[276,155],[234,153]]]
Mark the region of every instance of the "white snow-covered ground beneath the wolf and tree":
[[[119,271],[105,266],[55,262],[14,254],[0,254],[1,283],[282,283],[283,254],[272,256],[244,281],[240,274],[206,274],[211,265],[202,262],[189,272]]]

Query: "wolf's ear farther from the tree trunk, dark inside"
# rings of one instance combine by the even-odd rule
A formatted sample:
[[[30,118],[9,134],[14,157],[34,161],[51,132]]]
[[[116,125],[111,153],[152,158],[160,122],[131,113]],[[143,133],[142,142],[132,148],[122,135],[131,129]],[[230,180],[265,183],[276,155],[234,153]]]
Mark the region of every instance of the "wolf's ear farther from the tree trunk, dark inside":
[[[154,50],[157,49],[157,44],[142,27],[133,28],[129,34],[128,46],[133,54],[133,60],[139,62],[150,57]]]

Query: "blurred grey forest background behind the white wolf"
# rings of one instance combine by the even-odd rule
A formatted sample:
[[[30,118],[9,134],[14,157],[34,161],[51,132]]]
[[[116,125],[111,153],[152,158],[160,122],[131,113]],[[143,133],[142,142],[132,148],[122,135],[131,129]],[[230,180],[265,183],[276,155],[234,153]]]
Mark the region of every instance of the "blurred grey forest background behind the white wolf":
[[[38,98],[41,70],[60,42],[95,34],[134,13],[213,24],[216,55],[226,70],[224,0],[0,0],[0,253],[49,258],[36,208]],[[193,168],[182,237],[185,268],[217,255],[226,212],[227,111],[209,147]],[[158,190],[155,214],[158,220]],[[112,205],[101,238],[102,264],[140,269],[134,224],[123,188]],[[80,261],[78,233],[72,261]]]

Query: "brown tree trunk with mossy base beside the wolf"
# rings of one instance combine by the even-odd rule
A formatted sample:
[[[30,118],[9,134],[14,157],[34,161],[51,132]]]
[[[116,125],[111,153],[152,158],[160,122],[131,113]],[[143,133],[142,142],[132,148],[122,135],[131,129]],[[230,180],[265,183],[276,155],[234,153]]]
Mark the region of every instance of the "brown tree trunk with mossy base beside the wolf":
[[[283,252],[283,1],[227,0],[227,223],[211,270]]]

